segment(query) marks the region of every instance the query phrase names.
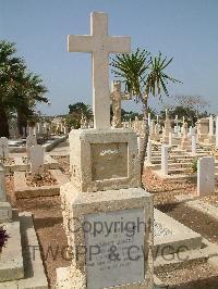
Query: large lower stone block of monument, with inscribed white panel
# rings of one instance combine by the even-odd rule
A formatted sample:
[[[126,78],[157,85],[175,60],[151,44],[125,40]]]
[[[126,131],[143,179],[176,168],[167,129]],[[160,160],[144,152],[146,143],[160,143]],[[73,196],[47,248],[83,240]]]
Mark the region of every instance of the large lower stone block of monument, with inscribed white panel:
[[[149,193],[141,188],[81,193],[69,183],[61,199],[73,262],[57,271],[57,288],[153,288]]]

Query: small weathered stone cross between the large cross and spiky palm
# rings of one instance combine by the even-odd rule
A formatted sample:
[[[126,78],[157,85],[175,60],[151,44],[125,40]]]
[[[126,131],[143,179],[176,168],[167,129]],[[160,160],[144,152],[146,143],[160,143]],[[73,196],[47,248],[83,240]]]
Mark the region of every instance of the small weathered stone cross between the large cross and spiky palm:
[[[130,93],[121,92],[121,81],[112,81],[111,84],[111,100],[112,100],[112,127],[122,127],[121,124],[121,101],[131,100]]]

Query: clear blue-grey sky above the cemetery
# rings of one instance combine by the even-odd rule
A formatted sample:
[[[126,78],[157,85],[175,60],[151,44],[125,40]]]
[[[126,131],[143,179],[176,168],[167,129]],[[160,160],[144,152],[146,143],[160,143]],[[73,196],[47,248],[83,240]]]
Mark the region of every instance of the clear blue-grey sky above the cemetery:
[[[38,106],[44,114],[65,114],[77,101],[92,104],[90,54],[69,53],[66,36],[89,34],[93,11],[108,13],[109,34],[130,36],[133,51],[173,58],[168,74],[183,84],[171,85],[170,96],[203,96],[218,114],[217,0],[0,0],[0,39],[15,42],[44,79],[51,102]],[[149,99],[157,111],[165,103],[172,98]],[[134,101],[122,108],[141,110]]]

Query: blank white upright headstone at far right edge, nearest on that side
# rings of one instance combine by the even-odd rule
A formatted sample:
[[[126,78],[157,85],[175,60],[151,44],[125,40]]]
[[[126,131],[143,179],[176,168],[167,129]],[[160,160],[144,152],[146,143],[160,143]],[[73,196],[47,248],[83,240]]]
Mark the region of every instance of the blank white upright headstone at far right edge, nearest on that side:
[[[197,196],[215,193],[215,159],[203,156],[197,161]]]

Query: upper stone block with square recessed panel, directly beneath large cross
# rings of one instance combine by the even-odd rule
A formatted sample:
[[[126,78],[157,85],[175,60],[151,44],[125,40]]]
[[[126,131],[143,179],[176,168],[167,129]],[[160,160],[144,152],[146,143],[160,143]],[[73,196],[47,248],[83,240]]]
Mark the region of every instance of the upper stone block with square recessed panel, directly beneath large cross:
[[[140,187],[132,129],[73,129],[69,138],[71,181],[80,191]]]

